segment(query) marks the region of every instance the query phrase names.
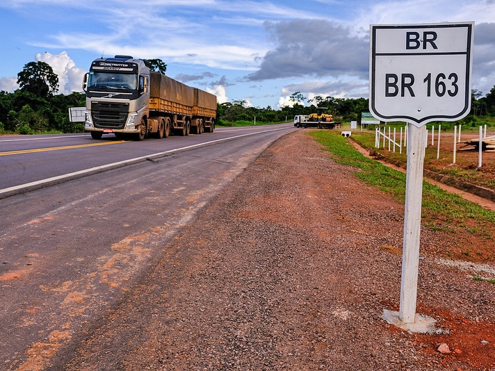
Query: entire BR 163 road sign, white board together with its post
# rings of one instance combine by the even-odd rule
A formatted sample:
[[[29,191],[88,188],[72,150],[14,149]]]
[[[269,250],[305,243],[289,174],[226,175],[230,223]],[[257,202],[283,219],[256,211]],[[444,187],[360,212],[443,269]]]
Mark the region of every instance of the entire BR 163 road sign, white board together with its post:
[[[425,124],[469,113],[473,28],[474,22],[370,26],[370,111],[385,122],[408,123],[400,310],[389,321],[398,325],[419,322]]]

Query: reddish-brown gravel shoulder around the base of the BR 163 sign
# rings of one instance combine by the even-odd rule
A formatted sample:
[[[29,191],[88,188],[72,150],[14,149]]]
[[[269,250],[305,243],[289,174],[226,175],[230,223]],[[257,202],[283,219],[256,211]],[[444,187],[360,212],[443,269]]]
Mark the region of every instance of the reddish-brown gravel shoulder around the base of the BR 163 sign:
[[[435,333],[382,319],[404,206],[355,171],[305,131],[280,138],[47,369],[495,370],[495,265],[441,256],[476,240],[421,231],[416,312]]]

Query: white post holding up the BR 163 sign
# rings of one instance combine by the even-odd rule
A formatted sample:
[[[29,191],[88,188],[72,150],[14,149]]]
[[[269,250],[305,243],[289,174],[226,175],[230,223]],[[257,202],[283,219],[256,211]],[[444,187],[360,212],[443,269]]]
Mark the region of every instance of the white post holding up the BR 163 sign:
[[[413,323],[416,319],[418,292],[419,239],[426,128],[425,126],[418,128],[413,124],[409,124],[408,127],[409,142],[407,143],[403,267],[400,283],[399,319],[405,323]]]

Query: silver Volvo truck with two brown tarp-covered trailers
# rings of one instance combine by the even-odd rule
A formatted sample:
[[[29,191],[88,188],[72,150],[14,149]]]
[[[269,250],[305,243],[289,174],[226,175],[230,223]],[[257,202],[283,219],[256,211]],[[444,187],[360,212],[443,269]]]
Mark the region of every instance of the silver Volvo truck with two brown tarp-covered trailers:
[[[150,70],[143,59],[115,56],[93,60],[83,79],[86,92],[85,131],[93,139],[104,133],[168,138],[170,133],[213,133],[214,94]]]

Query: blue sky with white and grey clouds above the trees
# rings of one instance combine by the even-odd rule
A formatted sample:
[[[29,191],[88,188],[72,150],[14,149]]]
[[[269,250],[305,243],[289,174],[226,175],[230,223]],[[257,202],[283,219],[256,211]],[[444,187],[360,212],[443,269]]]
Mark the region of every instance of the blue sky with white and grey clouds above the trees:
[[[310,99],[368,97],[370,24],[476,22],[472,88],[495,85],[495,0],[2,0],[0,90],[26,63],[82,91],[93,59],[161,58],[168,76],[220,103],[279,108]]]

